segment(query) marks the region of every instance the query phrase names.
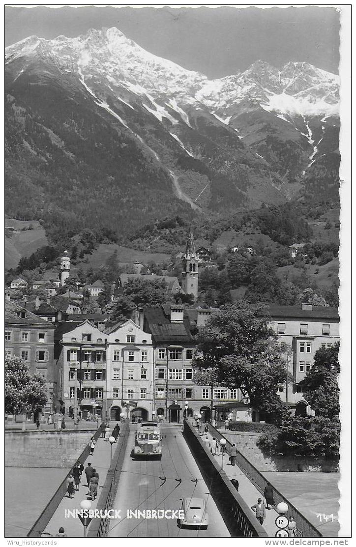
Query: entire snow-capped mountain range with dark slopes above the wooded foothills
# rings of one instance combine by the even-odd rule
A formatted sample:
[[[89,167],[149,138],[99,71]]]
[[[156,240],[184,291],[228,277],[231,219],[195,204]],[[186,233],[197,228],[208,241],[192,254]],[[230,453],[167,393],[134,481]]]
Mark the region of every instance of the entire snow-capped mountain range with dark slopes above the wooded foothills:
[[[5,54],[10,216],[53,217],[54,200],[71,230],[87,226],[90,211],[125,231],[167,207],[219,212],[305,190],[335,194],[335,74],[256,61],[209,80],[117,28],[29,37]]]

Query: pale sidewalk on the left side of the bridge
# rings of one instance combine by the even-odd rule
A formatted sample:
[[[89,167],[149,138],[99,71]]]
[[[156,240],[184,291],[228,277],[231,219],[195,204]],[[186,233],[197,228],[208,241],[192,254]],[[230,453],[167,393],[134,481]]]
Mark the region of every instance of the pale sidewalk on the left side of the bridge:
[[[117,443],[112,446],[112,451],[116,449]],[[69,498],[68,494],[64,496],[58,508],[56,509],[53,517],[49,521],[45,532],[55,536],[58,533],[59,528],[62,526],[65,529],[65,533],[68,537],[77,538],[83,537],[83,525],[79,518],[70,517],[65,519],[65,509],[73,511],[74,509],[81,509],[81,502],[83,499],[90,499],[91,509],[96,509],[97,500],[100,497],[100,488],[104,486],[107,475],[107,470],[110,467],[110,443],[104,439],[97,439],[94,455],[88,456],[83,463],[84,469],[87,467],[88,462],[91,463],[91,467],[95,467],[97,473],[99,473],[99,488],[97,496],[94,502],[88,497],[87,476],[84,471],[81,477],[81,484],[79,485],[79,492],[74,491],[73,498]],[[90,525],[89,525],[90,526]],[[89,527],[88,527],[89,528]]]

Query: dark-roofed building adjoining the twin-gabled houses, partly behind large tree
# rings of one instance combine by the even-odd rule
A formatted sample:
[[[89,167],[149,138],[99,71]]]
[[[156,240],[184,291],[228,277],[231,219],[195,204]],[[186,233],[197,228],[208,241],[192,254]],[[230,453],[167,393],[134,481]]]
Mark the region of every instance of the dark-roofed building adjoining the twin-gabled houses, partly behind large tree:
[[[143,328],[152,334],[154,347],[154,411],[167,422],[179,423],[197,414],[209,421],[211,408],[219,403],[242,403],[239,389],[197,386],[193,381],[193,335],[210,314],[211,309],[187,309],[180,304],[145,310]],[[247,405],[242,405],[245,410]]]

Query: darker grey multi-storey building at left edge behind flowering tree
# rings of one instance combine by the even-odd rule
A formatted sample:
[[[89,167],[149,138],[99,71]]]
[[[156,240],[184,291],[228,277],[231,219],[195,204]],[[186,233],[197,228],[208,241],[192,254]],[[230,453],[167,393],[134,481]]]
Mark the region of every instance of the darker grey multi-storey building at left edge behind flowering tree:
[[[25,307],[5,300],[5,353],[21,357],[31,374],[42,376],[47,388],[48,402],[43,409],[46,414],[53,411],[58,391],[54,329],[53,324]]]

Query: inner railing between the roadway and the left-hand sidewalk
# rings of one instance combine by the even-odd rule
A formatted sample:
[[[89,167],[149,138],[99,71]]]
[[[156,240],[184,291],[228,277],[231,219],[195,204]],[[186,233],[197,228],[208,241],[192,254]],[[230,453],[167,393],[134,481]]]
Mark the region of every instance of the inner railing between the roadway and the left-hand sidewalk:
[[[129,432],[130,421],[126,419],[121,429],[120,437],[118,437],[117,447],[113,453],[112,462],[106,475],[104,487],[102,488],[100,498],[97,501],[96,509],[99,509],[99,511],[101,510],[102,515],[105,515],[105,509],[112,509],[114,505],[120,473],[127,449]],[[88,537],[96,538],[106,536],[111,521],[112,519],[109,519],[107,516],[93,519],[90,522]]]

